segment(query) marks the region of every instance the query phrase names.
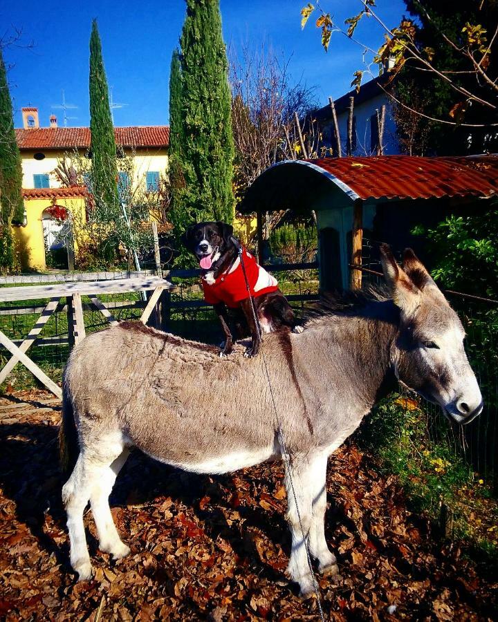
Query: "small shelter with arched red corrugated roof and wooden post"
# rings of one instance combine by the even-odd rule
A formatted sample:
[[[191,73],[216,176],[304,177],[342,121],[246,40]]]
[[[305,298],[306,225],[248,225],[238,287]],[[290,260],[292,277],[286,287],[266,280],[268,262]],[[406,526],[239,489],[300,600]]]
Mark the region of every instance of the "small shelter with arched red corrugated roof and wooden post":
[[[315,211],[322,290],[361,286],[362,238],[423,256],[414,225],[435,225],[452,213],[487,209],[498,195],[498,156],[420,158],[376,156],[286,160],[252,183],[239,208],[256,212],[258,242],[264,214]]]

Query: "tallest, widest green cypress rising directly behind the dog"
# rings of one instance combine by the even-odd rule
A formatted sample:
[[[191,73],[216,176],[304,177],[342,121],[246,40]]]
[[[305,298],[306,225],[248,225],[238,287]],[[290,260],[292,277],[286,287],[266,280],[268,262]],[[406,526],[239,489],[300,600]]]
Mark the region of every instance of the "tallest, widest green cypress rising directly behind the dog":
[[[231,97],[219,0],[187,0],[180,44],[181,105],[175,102],[171,117],[173,124],[181,118],[181,131],[173,133],[184,180],[173,188],[177,234],[196,220],[231,223],[234,217]]]

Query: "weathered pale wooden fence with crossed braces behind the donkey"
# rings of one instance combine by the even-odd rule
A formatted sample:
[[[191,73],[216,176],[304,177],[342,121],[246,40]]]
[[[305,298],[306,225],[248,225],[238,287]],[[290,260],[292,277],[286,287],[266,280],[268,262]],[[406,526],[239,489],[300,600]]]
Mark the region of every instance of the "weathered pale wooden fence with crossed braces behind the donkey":
[[[271,272],[294,272],[302,270],[316,270],[317,263],[274,264],[266,266]],[[39,368],[28,357],[26,352],[32,346],[68,346],[71,349],[86,334],[84,312],[99,312],[104,323],[111,325],[118,323],[114,314],[122,310],[136,310],[140,313],[140,320],[149,323],[160,330],[169,330],[170,317],[176,310],[201,310],[211,305],[201,298],[172,299],[172,292],[181,288],[183,293],[196,292],[200,294],[199,285],[191,279],[199,277],[201,271],[167,270],[161,276],[153,276],[150,272],[105,272],[105,273],[75,273],[63,275],[15,276],[3,277],[4,285],[0,287],[0,319],[5,316],[35,315],[37,319],[22,339],[8,337],[0,330],[0,344],[10,352],[10,359],[0,370],[0,384],[7,379],[18,363],[23,364],[39,381],[41,381],[55,395],[60,396],[61,390],[53,379]],[[89,275],[95,274],[102,280],[89,280]],[[59,276],[59,278],[57,278]],[[9,279],[7,281],[6,279]],[[10,280],[12,279],[12,280]],[[47,281],[50,279],[50,283]],[[187,281],[187,285],[178,286],[172,279]],[[55,283],[54,283],[55,281]],[[36,284],[33,284],[36,283]],[[42,284],[43,283],[43,284]],[[128,294],[129,292],[147,292],[146,300],[124,299],[120,301],[102,301],[99,296],[108,298],[108,294]],[[86,297],[86,301],[82,299]],[[289,294],[289,301],[301,302],[317,299],[317,294]],[[29,304],[35,301],[35,304]],[[6,306],[8,304],[8,306]],[[42,330],[50,317],[55,314],[65,314],[67,317],[67,334],[42,336]]]

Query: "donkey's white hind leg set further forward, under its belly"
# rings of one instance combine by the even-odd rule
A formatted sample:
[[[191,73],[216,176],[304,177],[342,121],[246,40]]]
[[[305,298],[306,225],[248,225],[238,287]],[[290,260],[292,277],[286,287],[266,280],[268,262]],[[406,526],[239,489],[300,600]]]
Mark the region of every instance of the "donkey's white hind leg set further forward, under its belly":
[[[101,551],[110,553],[115,560],[127,556],[130,549],[122,543],[116,525],[114,525],[109,507],[109,495],[128,456],[129,450],[123,449],[118,458],[113,460],[109,466],[98,466],[90,495],[93,520],[95,520],[98,532],[99,548]]]

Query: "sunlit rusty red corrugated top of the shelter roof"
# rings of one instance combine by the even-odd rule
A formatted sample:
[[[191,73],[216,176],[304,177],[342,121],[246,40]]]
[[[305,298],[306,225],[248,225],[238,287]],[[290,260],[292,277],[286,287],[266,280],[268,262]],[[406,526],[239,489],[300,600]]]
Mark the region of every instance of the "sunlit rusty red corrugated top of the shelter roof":
[[[324,158],[313,164],[358,198],[487,197],[498,193],[498,156]]]

